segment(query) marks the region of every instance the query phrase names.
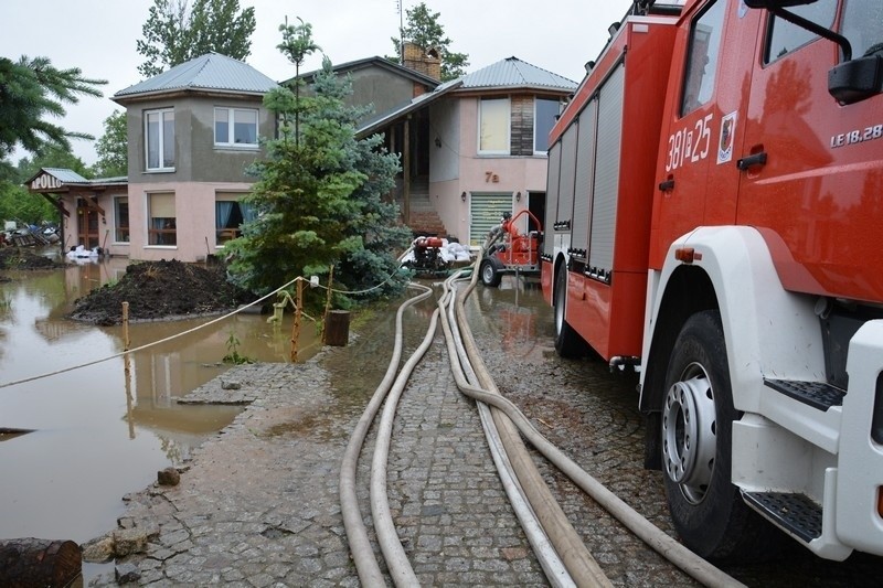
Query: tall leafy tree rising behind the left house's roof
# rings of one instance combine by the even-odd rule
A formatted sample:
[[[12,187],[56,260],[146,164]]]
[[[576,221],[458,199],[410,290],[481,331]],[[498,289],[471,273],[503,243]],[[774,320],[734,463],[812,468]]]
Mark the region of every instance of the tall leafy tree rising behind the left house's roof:
[[[136,42],[145,62],[138,72],[153,77],[209,52],[244,61],[252,52],[255,9],[240,11],[240,0],[153,0]]]

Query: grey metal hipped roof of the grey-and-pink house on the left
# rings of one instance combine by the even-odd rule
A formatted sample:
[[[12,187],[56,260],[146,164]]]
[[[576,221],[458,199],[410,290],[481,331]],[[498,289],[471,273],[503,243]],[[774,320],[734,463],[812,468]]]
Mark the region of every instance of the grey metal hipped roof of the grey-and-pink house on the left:
[[[114,100],[181,90],[233,92],[263,96],[278,84],[241,61],[206,53],[114,94]]]

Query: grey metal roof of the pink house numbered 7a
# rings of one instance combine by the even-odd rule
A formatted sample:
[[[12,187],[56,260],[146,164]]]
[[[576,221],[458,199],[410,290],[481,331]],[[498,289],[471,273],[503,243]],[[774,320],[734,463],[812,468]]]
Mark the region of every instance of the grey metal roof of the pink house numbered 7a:
[[[467,74],[457,79],[445,82],[433,92],[422,94],[409,103],[398,108],[381,113],[379,116],[366,120],[358,130],[359,137],[366,137],[392,124],[396,119],[425,108],[442,96],[457,92],[480,92],[496,89],[533,89],[572,93],[576,89],[576,82],[553,74],[546,70],[531,65],[518,57],[507,57],[477,72]]]

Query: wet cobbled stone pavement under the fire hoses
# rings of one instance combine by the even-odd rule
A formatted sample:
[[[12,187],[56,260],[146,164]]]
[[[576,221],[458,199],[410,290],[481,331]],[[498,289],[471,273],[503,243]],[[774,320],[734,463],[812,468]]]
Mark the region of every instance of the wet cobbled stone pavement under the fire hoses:
[[[591,474],[671,534],[661,479],[641,468],[637,379],[609,374],[596,359],[557,359],[551,311],[535,290],[479,287],[467,307],[501,393]],[[406,313],[406,350],[422,338],[432,308]],[[179,485],[126,496],[120,527],[147,531],[150,539],[145,553],[118,559],[116,573],[156,586],[358,586],[338,474],[349,436],[386,368],[389,314],[354,329],[359,334],[348,348],[328,349],[305,364],[236,367],[190,394],[191,400],[253,402],[194,450]],[[231,384],[238,389],[226,389]],[[369,530],[373,434],[372,428],[357,480]],[[538,461],[614,585],[694,585]],[[547,585],[509,506],[475,403],[456,389],[440,329],[400,402],[387,490],[423,585]],[[879,558],[834,564],[799,548],[773,564],[727,569],[749,586],[872,586],[881,570]],[[108,571],[88,584],[117,579]]]

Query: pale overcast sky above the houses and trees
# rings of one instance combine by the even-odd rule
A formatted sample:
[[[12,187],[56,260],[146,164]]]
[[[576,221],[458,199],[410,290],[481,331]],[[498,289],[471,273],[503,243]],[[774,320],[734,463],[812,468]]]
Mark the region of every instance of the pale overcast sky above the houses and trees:
[[[417,0],[400,0],[409,9]],[[0,0],[0,56],[44,56],[58,68],[79,67],[89,78],[106,79],[104,98],[81,98],[66,106],[62,125],[68,130],[100,137],[103,121],[115,108],[115,93],[141,81],[136,51],[153,0]],[[240,0],[254,7],[257,28],[246,62],[274,79],[294,75],[294,66],[276,45],[279,24],[300,17],[312,24],[313,39],[332,63],[393,53],[397,36],[396,0]],[[631,0],[427,0],[453,41],[450,49],[469,55],[467,72],[506,57],[563,75],[583,78],[584,64],[594,60],[607,41],[607,28],[618,21]],[[313,55],[304,71],[316,70]],[[0,105],[1,106],[1,105]],[[92,141],[74,140],[74,152],[87,164],[95,162]],[[13,161],[26,153],[19,151]]]

